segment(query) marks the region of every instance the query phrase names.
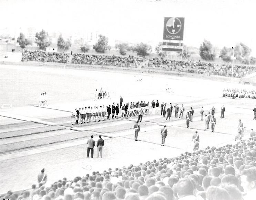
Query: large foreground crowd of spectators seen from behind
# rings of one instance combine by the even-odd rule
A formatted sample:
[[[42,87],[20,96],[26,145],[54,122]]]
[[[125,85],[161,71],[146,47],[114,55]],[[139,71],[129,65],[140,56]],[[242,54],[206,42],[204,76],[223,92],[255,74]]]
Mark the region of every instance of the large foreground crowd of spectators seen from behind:
[[[253,200],[256,195],[256,137],[207,147],[137,166],[92,172],[21,193],[10,200]]]

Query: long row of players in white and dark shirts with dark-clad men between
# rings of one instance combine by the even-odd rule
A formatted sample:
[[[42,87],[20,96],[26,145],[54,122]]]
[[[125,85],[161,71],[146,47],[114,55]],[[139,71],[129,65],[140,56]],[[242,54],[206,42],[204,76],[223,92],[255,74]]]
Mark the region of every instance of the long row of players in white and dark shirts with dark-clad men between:
[[[107,114],[107,119],[109,120],[110,115],[112,113],[112,119],[114,119],[114,117],[117,119],[118,118],[118,114],[119,114],[119,110],[121,109],[121,117],[133,117],[136,115],[139,115],[140,110],[143,108],[143,113],[145,115],[149,115],[149,102],[147,104],[144,103],[140,103],[137,102],[136,104],[134,104],[134,102],[131,104],[127,103],[126,105],[122,105],[119,106],[119,104],[117,104],[115,106],[115,103],[113,103],[112,106],[89,106],[88,108],[85,106],[84,108],[79,108],[79,109],[75,109],[75,111],[72,113],[72,125],[78,125],[78,123],[82,124],[82,123],[89,123],[91,121],[95,122],[97,121],[105,121],[105,115]],[[144,112],[145,111],[145,112]],[[79,121],[80,120],[80,121]]]

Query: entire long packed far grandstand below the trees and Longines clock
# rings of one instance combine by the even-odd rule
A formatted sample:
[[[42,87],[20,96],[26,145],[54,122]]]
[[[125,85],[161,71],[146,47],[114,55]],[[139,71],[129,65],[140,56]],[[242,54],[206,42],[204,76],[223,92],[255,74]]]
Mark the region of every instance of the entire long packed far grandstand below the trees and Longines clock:
[[[72,57],[73,64],[91,64],[119,67],[143,67],[143,68],[164,68],[167,70],[178,70],[180,72],[199,73],[206,75],[232,76],[232,65],[223,63],[202,62],[193,60],[168,60],[166,58],[155,57],[145,59],[135,56],[109,56],[109,55],[89,55],[73,54],[64,52],[45,52],[26,50],[22,54],[22,61],[60,62],[68,63]],[[245,65],[235,65],[233,69],[234,77],[242,78],[247,74],[256,72],[256,68]]]

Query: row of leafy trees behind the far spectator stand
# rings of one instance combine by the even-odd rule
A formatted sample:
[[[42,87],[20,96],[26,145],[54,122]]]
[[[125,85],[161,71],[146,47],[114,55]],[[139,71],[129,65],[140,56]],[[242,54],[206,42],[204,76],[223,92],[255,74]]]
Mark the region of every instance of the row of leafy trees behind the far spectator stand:
[[[39,33],[36,33],[36,43],[40,49],[45,50],[47,47],[51,45],[51,39],[47,32],[44,30],[40,31]],[[23,33],[20,33],[20,36],[17,38],[17,42],[19,43],[21,48],[25,48],[28,45],[31,45],[31,42],[25,38]],[[83,40],[79,42],[81,44],[81,51],[82,52],[88,52],[90,47],[88,44],[83,44]],[[68,50],[71,47],[71,41],[64,40],[62,35],[59,36],[57,46],[62,50]],[[127,43],[120,43],[116,44],[116,48],[119,49],[119,52],[121,55],[126,55],[127,51],[133,51],[136,52],[138,56],[145,57],[149,55],[152,52],[152,47],[145,43],[140,43],[135,46],[129,46]],[[186,46],[184,45],[186,48]],[[162,43],[159,43],[155,47],[156,53],[160,56],[162,54],[161,51]],[[99,35],[99,39],[96,42],[95,45],[93,45],[93,49],[96,52],[105,53],[107,50],[110,50],[111,47],[108,44],[108,38],[104,35]],[[246,46],[243,43],[237,44],[234,49],[223,47],[223,49],[220,51],[219,58],[221,58],[225,62],[231,62],[233,58],[233,50],[234,50],[234,57],[235,59],[239,60],[242,63],[249,64],[249,63],[255,63],[256,58],[249,57],[251,53],[251,49]],[[190,57],[190,54],[187,53],[188,57]],[[209,42],[208,40],[204,40],[203,43],[199,47],[199,55],[203,60],[214,60],[216,58],[216,50]],[[165,54],[163,54],[165,56]],[[181,56],[181,55],[180,55]]]

